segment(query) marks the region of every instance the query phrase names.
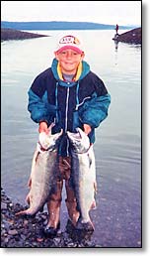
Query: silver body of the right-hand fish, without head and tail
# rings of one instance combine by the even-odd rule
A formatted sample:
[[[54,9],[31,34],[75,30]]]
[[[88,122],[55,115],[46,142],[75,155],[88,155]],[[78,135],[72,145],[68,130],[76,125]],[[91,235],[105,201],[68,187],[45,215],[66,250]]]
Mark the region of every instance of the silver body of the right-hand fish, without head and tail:
[[[95,201],[96,182],[95,159],[91,148],[88,153],[77,154],[72,151],[72,172],[82,222],[90,221],[89,210]]]

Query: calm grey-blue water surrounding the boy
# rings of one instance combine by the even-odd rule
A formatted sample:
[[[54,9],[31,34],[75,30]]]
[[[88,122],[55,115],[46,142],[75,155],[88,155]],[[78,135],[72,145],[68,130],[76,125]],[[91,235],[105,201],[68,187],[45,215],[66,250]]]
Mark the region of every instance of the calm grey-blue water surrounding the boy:
[[[41,33],[42,32],[42,33]],[[124,31],[123,31],[124,32]],[[57,38],[70,31],[2,43],[2,187],[25,204],[38,125],[27,110],[28,89],[53,59]],[[85,61],[112,95],[108,118],[97,129],[97,209],[92,240],[103,247],[141,246],[141,48],[112,41],[114,31],[74,31],[81,35]],[[119,32],[121,33],[121,32]],[[61,207],[61,228],[67,210]]]

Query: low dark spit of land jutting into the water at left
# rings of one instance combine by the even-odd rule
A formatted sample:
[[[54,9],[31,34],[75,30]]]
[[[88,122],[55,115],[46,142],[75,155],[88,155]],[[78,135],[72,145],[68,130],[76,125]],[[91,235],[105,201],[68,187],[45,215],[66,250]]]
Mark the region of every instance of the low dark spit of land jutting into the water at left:
[[[24,40],[24,39],[33,39],[33,38],[40,38],[40,37],[48,37],[48,36],[38,35],[34,33],[23,32],[23,31],[13,30],[13,29],[1,29],[1,41]]]

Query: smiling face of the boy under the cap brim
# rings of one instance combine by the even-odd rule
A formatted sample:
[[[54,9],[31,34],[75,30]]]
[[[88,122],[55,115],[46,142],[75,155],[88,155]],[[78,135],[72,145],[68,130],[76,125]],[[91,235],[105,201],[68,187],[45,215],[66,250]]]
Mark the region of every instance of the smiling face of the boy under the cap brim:
[[[78,65],[84,59],[84,53],[80,55],[71,49],[67,49],[60,53],[55,53],[55,58],[59,62],[63,73],[75,74]]]

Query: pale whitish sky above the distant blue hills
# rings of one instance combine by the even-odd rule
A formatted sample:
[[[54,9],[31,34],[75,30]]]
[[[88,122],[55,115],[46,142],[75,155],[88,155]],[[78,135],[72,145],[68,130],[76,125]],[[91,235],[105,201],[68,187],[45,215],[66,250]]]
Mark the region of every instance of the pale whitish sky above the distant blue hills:
[[[1,21],[141,26],[141,1],[1,1]]]

